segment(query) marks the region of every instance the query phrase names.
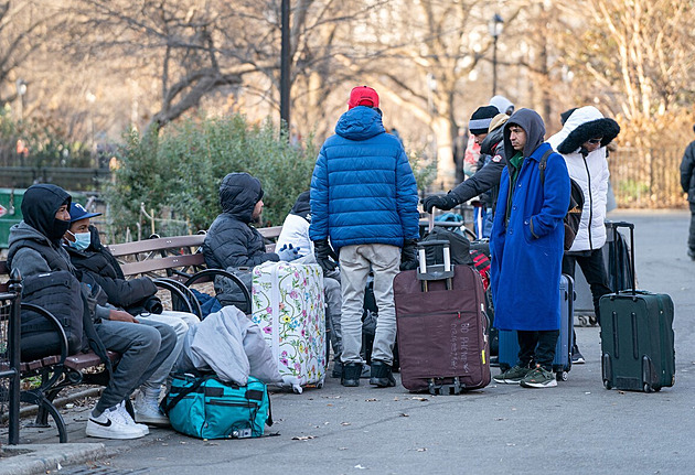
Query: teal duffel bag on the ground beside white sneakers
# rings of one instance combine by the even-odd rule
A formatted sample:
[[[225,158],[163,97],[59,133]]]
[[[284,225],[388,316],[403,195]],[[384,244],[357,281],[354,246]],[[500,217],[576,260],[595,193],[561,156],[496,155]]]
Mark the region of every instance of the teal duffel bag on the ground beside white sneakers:
[[[259,438],[272,425],[268,388],[254,377],[238,386],[216,375],[174,375],[162,410],[175,431],[199,439]]]

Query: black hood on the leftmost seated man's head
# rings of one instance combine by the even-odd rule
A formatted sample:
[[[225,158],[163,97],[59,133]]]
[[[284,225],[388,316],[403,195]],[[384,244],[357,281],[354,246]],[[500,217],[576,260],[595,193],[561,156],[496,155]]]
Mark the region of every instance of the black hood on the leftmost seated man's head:
[[[54,237],[55,214],[63,205],[72,202],[71,195],[63,188],[51,184],[32,185],[24,192],[22,216],[24,223],[60,246],[63,234]]]

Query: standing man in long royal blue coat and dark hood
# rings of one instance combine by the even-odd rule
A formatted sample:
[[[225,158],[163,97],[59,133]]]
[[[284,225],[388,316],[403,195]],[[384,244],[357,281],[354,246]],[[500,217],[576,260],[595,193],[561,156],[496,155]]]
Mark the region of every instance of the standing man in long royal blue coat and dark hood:
[[[490,281],[499,330],[516,330],[518,361],[494,377],[526,388],[557,386],[553,374],[559,336],[563,218],[569,206],[569,175],[563,156],[543,141],[537,112],[520,109],[504,126],[507,165],[490,238]],[[538,164],[547,156],[545,179]]]

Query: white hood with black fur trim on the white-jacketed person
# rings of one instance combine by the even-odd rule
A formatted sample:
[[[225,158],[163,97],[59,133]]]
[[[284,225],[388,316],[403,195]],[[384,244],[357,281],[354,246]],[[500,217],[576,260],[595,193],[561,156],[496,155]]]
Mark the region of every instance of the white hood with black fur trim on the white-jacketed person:
[[[602,137],[601,147],[608,145],[620,133],[620,126],[613,119],[605,118],[594,106],[576,109],[563,129],[548,139],[548,143],[559,153],[577,152],[589,139]]]

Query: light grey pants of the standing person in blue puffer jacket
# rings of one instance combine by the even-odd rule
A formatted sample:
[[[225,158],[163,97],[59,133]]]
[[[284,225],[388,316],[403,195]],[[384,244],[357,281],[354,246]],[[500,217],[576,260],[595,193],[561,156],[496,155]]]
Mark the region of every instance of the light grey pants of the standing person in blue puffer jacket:
[[[396,307],[394,277],[400,267],[400,248],[371,244],[345,246],[340,249],[341,287],[343,305],[341,326],[343,334],[343,363],[363,363],[362,310],[364,290],[370,269],[374,272],[374,298],[378,307],[372,359],[393,364],[396,342]]]

